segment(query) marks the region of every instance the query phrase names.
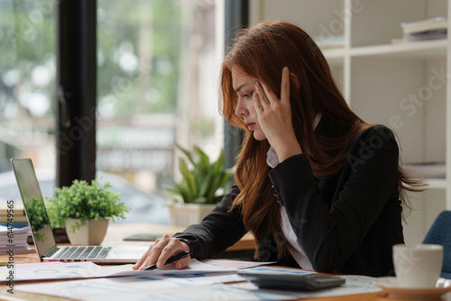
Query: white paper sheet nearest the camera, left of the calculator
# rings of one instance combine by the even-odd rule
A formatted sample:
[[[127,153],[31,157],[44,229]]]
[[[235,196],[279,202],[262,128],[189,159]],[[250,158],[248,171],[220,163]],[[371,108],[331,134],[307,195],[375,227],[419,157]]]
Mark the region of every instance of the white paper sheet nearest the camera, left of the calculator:
[[[205,277],[208,278],[208,276]],[[189,281],[186,278],[161,278],[160,276],[60,281],[56,283],[23,285],[16,287],[16,290],[84,301],[270,301],[298,299],[297,296],[276,292],[249,291],[223,283],[210,285],[199,281]]]

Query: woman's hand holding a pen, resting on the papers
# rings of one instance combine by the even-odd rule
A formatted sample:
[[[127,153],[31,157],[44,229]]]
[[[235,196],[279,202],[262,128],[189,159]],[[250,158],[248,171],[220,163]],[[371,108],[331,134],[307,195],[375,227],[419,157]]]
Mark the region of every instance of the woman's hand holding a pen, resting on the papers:
[[[143,257],[135,263],[133,269],[143,270],[154,263],[157,264],[158,269],[161,269],[170,256],[178,254],[181,251],[189,251],[188,244],[180,242],[179,239],[170,237],[168,234],[164,234],[161,238],[152,243],[149,250],[147,250]],[[189,266],[190,262],[191,257],[187,256],[170,264],[173,265],[175,269],[184,269]]]

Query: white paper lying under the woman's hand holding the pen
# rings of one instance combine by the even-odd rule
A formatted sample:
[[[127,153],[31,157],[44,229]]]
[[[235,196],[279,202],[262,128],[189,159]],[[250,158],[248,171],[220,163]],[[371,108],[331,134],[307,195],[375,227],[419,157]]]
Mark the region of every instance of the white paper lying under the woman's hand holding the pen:
[[[27,280],[49,280],[68,278],[103,278],[124,277],[137,275],[162,275],[171,277],[173,275],[192,275],[201,273],[231,273],[240,269],[235,260],[228,264],[220,264],[218,261],[229,260],[191,260],[186,269],[152,269],[135,270],[132,264],[118,266],[98,266],[90,261],[83,262],[40,262],[30,264],[17,264],[14,269],[0,267],[0,282],[6,282],[11,270],[14,270],[14,281]],[[267,262],[240,261],[242,267],[258,266]]]

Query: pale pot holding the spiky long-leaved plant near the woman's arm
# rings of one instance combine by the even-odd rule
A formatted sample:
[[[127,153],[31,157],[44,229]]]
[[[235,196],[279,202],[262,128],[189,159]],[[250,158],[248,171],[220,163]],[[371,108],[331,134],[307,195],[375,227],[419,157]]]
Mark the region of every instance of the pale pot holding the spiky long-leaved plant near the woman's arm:
[[[216,204],[175,204],[169,205],[170,225],[188,227],[200,223],[215,208]]]

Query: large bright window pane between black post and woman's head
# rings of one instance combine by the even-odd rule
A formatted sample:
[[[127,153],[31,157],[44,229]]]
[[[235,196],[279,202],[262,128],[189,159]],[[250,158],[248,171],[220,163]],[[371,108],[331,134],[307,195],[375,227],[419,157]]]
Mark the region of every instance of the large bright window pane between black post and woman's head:
[[[217,158],[224,131],[217,110],[220,3],[98,0],[98,170],[163,196],[162,184],[177,177],[176,143]]]

